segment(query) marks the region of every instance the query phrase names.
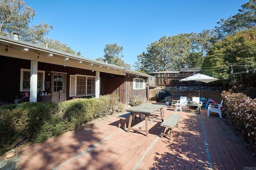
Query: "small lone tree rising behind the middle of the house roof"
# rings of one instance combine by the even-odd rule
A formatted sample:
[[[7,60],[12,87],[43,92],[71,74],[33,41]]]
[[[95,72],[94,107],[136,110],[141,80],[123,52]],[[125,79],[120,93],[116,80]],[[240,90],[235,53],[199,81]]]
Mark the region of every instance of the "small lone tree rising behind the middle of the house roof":
[[[124,68],[131,68],[130,64],[124,63],[124,61],[121,59],[121,57],[124,57],[122,55],[123,47],[118,46],[116,43],[114,44],[107,44],[104,48],[104,56],[97,58],[97,61],[103,61],[108,62],[109,64],[114,64],[117,66],[121,66]]]

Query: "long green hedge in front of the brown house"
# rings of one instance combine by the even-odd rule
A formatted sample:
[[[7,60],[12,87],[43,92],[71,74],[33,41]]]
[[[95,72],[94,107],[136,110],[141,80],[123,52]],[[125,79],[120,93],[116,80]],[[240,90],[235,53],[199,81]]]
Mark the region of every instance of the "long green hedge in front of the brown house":
[[[117,95],[60,103],[25,102],[0,107],[0,155],[29,142],[40,143],[72,131],[98,117],[121,113]]]

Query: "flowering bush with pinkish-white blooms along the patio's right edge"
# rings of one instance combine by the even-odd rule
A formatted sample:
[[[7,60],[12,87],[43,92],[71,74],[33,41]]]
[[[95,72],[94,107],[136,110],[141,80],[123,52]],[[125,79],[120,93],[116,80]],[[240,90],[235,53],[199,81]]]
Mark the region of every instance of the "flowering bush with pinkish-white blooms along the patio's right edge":
[[[256,152],[256,99],[226,91],[222,92],[222,98],[230,124]]]

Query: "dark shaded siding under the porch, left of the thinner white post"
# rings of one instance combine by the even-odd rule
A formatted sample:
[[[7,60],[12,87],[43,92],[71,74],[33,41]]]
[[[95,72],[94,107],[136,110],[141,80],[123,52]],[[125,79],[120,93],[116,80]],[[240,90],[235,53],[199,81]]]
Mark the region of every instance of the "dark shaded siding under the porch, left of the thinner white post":
[[[15,96],[20,92],[20,68],[30,69],[30,60],[16,59],[12,57],[0,56],[0,99],[7,102],[14,102]],[[64,67],[56,64],[41,63],[38,62],[38,70],[45,71],[45,81],[51,82],[51,75],[48,76],[47,70],[53,72],[67,73],[67,100],[69,98],[69,75],[82,74],[95,76],[95,72],[92,70]],[[51,87],[51,86],[50,86]],[[47,93],[51,93],[51,88],[46,89]]]

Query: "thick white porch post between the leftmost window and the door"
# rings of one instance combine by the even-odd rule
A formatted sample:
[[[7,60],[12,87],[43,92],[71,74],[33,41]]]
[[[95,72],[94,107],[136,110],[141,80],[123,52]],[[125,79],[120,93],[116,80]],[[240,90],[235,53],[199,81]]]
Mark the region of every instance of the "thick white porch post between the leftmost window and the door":
[[[37,98],[37,68],[38,68],[38,61],[31,60],[31,65],[30,65],[30,102],[36,102],[36,98]]]

